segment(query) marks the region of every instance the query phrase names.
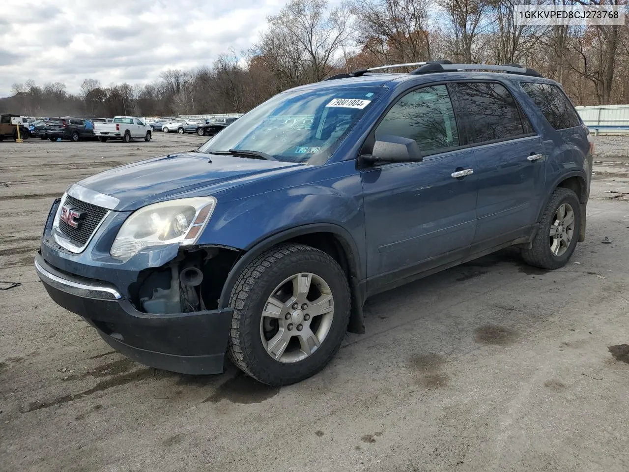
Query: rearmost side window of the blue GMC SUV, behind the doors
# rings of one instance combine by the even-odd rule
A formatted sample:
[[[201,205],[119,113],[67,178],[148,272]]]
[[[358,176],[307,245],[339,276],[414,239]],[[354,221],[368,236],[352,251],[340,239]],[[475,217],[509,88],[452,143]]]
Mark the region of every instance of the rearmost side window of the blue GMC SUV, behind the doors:
[[[559,87],[532,82],[522,82],[521,86],[555,130],[581,126],[579,114]]]

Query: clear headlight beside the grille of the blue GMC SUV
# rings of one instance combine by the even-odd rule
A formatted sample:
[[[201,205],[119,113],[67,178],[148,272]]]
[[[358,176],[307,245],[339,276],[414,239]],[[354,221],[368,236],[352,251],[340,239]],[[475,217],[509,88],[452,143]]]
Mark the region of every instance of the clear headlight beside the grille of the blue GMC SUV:
[[[126,219],[109,254],[128,259],[148,246],[194,244],[216,206],[216,198],[181,198],[136,210]]]

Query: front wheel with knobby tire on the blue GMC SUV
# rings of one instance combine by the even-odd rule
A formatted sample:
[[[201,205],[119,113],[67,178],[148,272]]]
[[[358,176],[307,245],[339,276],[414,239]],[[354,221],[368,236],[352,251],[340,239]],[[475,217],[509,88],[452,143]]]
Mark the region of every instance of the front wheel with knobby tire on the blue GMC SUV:
[[[311,303],[310,298],[306,300],[299,296],[297,302],[308,302],[301,306],[298,303],[282,305],[291,300],[292,279],[305,281],[307,278],[303,276],[306,273],[310,274],[312,280],[309,283],[312,291],[307,295],[315,298],[312,301],[324,300],[331,295],[325,305],[321,305],[326,308],[320,307],[320,313],[316,315],[308,314],[308,310],[315,309],[315,305],[308,305]],[[280,287],[288,289],[288,293],[283,294],[284,301],[279,298],[280,291],[276,291]],[[320,287],[323,287],[321,291]],[[263,317],[265,308],[273,306],[269,304],[272,295],[281,301],[282,308],[277,307],[280,316]],[[325,252],[298,244],[282,244],[269,249],[243,269],[231,291],[230,305],[234,308],[234,314],[228,356],[243,372],[267,385],[290,385],[306,379],[323,369],[338,351],[347,331],[350,299],[347,276],[337,261]],[[287,313],[282,316],[284,310]],[[267,349],[271,351],[270,342],[281,335],[280,323],[284,324],[282,332],[289,337],[290,342],[287,345],[283,343],[284,349],[277,353],[279,357],[274,358]],[[308,341],[298,334],[302,332],[311,335]],[[320,346],[315,347],[315,340]],[[303,342],[308,342],[309,354],[304,351],[306,348]]]

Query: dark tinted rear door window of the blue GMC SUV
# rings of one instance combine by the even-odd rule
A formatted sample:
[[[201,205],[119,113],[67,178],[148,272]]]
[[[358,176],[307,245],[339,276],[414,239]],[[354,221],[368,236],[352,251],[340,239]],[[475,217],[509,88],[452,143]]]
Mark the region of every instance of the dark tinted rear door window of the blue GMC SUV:
[[[501,84],[458,83],[457,97],[467,116],[467,132],[472,143],[521,137],[532,130],[526,117],[525,130],[518,104]]]

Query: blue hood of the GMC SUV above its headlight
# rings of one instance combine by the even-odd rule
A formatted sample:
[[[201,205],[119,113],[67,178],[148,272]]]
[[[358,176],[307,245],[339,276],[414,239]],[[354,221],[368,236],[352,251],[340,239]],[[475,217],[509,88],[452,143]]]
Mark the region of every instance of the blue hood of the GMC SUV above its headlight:
[[[276,160],[188,152],[114,167],[77,184],[118,199],[115,210],[136,210],[172,198],[212,195],[213,191],[296,167],[303,166]]]

